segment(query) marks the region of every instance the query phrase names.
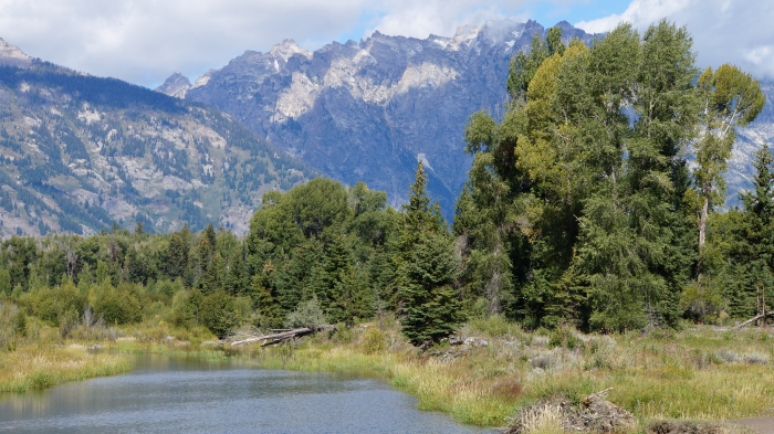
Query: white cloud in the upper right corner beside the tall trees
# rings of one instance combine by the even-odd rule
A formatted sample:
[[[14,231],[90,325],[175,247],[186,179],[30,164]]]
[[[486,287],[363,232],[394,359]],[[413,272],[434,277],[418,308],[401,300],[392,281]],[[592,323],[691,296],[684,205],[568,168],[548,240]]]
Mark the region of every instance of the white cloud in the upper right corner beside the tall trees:
[[[621,14],[575,25],[604,32],[621,21],[639,29],[660,19],[686,25],[701,66],[730,62],[762,78],[774,78],[774,8],[745,0],[634,0]]]

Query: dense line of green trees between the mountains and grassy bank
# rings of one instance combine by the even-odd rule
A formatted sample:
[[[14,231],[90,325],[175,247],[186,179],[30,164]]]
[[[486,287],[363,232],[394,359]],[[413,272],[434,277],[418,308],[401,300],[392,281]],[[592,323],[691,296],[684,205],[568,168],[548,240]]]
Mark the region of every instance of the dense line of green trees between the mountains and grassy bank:
[[[536,36],[512,62],[502,120],[470,118],[451,224],[421,163],[400,211],[364,183],[314,179],[265,193],[244,239],[139,222],[6,240],[0,294],[65,335],[84,316],[223,336],[395,314],[417,345],[471,316],[589,331],[746,319],[774,297],[771,151],[741,209],[721,209],[723,172],[764,97],[735,66],[694,59],[666,21],[592,46]]]

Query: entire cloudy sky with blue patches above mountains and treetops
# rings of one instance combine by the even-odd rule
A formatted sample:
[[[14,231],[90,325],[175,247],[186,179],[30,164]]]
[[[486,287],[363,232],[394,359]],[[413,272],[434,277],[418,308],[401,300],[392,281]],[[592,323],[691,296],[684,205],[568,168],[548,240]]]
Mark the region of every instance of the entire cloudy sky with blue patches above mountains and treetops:
[[[463,24],[534,19],[604,32],[665,18],[688,28],[700,66],[731,62],[774,78],[774,0],[0,0],[0,38],[35,57],[155,87],[284,39],[316,50],[374,30],[451,36]]]

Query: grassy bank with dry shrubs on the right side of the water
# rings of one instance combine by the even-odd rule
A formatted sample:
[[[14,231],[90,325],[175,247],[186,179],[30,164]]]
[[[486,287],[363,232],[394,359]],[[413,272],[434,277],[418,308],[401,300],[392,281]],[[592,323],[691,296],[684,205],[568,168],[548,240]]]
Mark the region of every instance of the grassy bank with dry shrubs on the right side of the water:
[[[608,388],[609,401],[632,412],[641,426],[651,420],[730,420],[774,410],[771,329],[584,336],[569,329],[524,332],[491,318],[462,330],[483,338],[478,346],[426,352],[390,328],[379,334],[383,348],[374,350],[368,334],[245,349],[241,356],[263,368],[370,372],[416,395],[420,409],[478,425],[504,425],[516,409],[541,398],[561,393],[579,401]]]

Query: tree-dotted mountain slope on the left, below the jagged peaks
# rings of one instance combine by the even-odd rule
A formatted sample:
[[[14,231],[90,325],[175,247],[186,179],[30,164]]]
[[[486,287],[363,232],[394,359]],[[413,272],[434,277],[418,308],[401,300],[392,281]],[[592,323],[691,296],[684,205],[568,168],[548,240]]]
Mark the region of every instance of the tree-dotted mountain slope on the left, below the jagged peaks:
[[[314,170],[216,109],[29,59],[0,41],[0,234],[113,222],[245,232],[264,191]]]

